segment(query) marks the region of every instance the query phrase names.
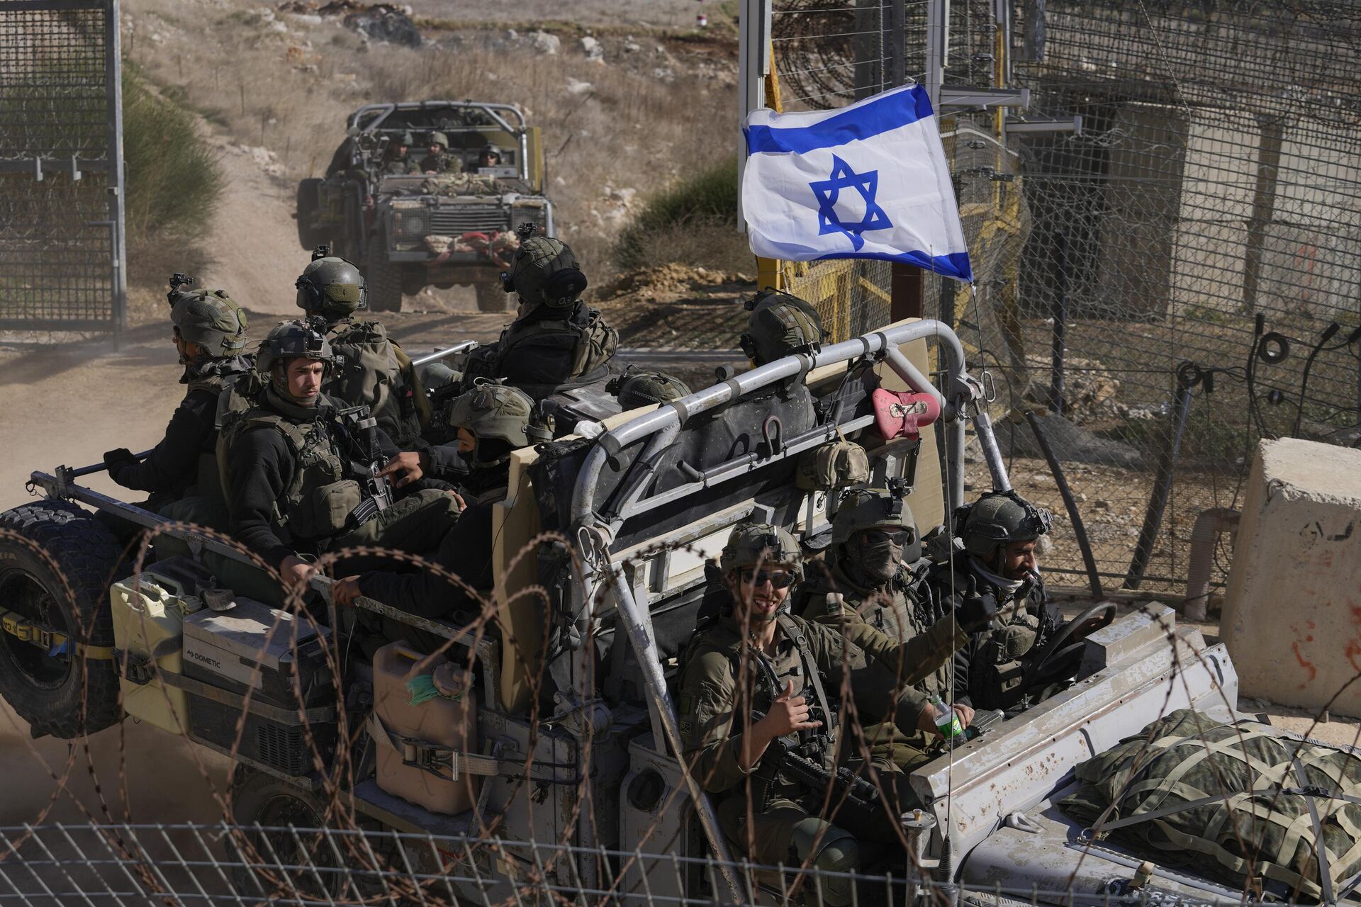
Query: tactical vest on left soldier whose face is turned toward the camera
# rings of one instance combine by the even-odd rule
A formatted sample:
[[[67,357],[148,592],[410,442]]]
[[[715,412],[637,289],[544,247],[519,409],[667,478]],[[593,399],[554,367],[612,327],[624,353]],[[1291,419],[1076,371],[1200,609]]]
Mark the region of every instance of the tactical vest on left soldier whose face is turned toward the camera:
[[[230,419],[218,438],[222,488],[231,494],[226,456],[231,445],[248,431],[265,430],[283,435],[294,462],[293,477],[275,502],[275,524],[282,530],[279,536],[286,543],[312,543],[318,549],[324,548],[325,543],[350,528],[350,515],[363,503],[363,490],[358,481],[346,477],[347,460],[323,422],[298,424],[263,408]]]

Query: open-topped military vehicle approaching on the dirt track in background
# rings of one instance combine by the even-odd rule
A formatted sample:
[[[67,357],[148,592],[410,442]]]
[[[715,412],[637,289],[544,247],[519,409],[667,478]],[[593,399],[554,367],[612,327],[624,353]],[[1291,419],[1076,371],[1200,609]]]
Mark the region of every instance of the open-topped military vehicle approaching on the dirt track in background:
[[[421,170],[433,133],[448,141],[457,173]],[[480,166],[487,146],[499,154],[494,166]],[[298,184],[295,216],[304,249],[329,243],[363,269],[374,311],[396,311],[423,287],[456,284],[474,287],[482,311],[502,311],[509,296],[498,280],[514,227],[554,234],[539,129],[514,105],[474,101],[359,107],[325,175]]]

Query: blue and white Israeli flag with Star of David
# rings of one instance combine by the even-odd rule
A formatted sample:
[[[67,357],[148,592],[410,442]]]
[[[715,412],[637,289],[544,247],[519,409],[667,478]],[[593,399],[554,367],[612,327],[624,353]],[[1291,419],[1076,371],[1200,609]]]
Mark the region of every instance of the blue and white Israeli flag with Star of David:
[[[960,207],[919,84],[837,110],[753,110],[742,212],[765,258],[883,258],[972,281]]]

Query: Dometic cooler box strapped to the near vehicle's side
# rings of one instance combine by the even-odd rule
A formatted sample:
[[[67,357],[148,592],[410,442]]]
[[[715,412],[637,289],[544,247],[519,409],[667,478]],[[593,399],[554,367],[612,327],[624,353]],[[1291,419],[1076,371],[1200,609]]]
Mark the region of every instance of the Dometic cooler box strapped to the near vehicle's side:
[[[191,729],[196,737],[289,775],[313,771],[312,749],[298,717],[298,691],[304,708],[338,708],[335,683],[327,666],[321,635],[308,621],[250,598],[237,597],[235,608],[203,611],[184,621],[184,674],[193,680],[245,695],[250,702],[275,706],[287,715],[274,718],[248,713],[237,747],[237,719],[242,706],[189,695]],[[271,632],[272,631],[272,632]],[[310,722],[312,741],[324,763],[335,752],[336,725]]]

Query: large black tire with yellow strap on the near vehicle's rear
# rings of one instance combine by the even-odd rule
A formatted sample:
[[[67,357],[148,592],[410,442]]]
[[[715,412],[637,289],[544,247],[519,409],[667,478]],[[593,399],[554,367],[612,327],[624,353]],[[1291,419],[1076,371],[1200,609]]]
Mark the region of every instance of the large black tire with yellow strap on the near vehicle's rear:
[[[121,553],[113,533],[72,503],[42,500],[0,513],[0,606],[72,640],[112,646],[109,585]],[[52,655],[5,632],[0,695],[35,734],[72,740],[122,719],[117,661]]]

